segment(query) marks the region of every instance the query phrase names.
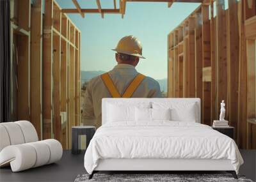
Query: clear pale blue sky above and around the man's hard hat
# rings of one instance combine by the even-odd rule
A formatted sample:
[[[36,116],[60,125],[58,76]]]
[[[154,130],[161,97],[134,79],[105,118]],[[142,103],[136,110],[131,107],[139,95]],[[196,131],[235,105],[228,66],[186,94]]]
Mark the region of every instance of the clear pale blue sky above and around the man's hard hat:
[[[57,0],[61,8],[75,8],[71,0]],[[81,8],[97,8],[95,0],[78,0]],[[102,8],[113,8],[113,0],[101,0]],[[117,0],[118,4],[118,0]],[[136,67],[154,79],[167,77],[167,35],[195,10],[200,3],[132,3],[128,2],[124,19],[121,15],[68,14],[81,30],[81,70],[108,71],[115,66],[116,43],[125,35],[139,38],[143,56]]]

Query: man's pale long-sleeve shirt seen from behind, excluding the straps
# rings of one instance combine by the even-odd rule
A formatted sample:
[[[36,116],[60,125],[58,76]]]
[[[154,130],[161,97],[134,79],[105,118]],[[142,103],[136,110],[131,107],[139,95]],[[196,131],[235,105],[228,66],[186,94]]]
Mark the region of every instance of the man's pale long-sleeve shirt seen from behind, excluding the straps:
[[[122,96],[138,72],[131,64],[117,64],[109,72],[118,93]],[[88,82],[84,99],[83,119],[85,125],[101,126],[101,100],[111,98],[107,87],[100,75]],[[145,77],[140,86],[134,91],[132,98],[161,98],[159,83],[151,77]]]

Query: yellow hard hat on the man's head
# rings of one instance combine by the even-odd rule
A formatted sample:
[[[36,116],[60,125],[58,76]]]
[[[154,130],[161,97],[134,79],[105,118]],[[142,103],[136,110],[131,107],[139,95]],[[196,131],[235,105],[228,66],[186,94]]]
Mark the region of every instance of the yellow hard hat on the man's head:
[[[112,50],[145,59],[145,57],[142,56],[142,46],[140,40],[132,35],[121,38],[116,45],[116,48]]]

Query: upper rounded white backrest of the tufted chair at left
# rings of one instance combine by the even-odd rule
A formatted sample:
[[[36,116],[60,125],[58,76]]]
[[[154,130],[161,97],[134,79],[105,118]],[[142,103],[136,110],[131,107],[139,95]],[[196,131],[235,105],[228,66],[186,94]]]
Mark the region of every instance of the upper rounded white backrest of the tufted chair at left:
[[[29,121],[0,123],[0,151],[6,146],[36,141],[35,127]]]

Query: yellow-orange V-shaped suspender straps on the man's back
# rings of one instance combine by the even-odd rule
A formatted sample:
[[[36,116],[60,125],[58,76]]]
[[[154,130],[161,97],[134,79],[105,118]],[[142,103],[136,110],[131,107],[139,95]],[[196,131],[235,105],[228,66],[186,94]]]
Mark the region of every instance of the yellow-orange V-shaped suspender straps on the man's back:
[[[127,87],[124,95],[122,95],[122,96],[120,96],[120,94],[118,93],[118,91],[117,91],[113,81],[109,77],[108,73],[102,74],[101,78],[113,98],[120,98],[120,97],[130,98],[133,95],[134,91],[136,91],[138,86],[140,86],[140,83],[145,78],[145,75],[142,75],[140,73],[138,75],[136,75],[136,77],[134,78],[134,80],[132,80],[131,84]]]

